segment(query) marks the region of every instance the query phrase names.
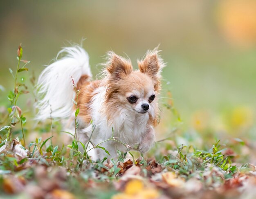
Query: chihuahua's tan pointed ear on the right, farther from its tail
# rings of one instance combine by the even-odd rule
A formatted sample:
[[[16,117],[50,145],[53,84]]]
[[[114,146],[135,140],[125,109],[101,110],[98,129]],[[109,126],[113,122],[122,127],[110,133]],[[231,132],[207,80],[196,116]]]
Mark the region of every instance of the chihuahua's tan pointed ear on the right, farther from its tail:
[[[165,64],[159,55],[160,50],[158,47],[154,50],[148,50],[143,60],[138,60],[139,70],[142,73],[146,73],[155,81],[159,81],[161,78],[161,71]]]

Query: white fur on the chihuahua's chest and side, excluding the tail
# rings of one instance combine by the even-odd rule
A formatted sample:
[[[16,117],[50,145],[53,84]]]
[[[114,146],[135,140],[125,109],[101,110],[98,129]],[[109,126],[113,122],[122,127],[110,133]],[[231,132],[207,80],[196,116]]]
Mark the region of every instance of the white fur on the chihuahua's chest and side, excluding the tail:
[[[111,138],[112,133],[117,140],[135,147],[141,142],[141,138],[146,133],[146,126],[149,119],[148,113],[140,114],[133,110],[118,109],[113,111],[113,120],[111,123],[107,122],[107,117],[104,114],[103,102],[106,89],[99,87],[95,91],[92,102],[92,122],[95,125],[94,132],[92,133],[93,144],[98,144]],[[113,128],[113,132],[112,132]],[[123,150],[125,147],[118,142],[104,142],[101,144],[104,148],[116,152],[116,149]],[[112,155],[112,154],[111,154]]]

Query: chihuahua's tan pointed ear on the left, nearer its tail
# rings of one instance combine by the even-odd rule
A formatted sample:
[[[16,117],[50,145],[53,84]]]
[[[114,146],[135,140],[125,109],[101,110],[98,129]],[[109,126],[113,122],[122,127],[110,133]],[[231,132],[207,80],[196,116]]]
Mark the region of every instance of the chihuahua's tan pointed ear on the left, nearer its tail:
[[[132,64],[129,59],[125,59],[115,54],[115,52],[108,52],[108,62],[106,70],[115,79],[122,79],[122,77],[132,72]]]

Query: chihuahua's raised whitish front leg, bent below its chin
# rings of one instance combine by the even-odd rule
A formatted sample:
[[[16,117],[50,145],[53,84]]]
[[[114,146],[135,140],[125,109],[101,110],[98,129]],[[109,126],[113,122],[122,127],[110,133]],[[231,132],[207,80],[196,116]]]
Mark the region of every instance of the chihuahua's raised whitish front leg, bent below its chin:
[[[140,153],[146,153],[155,143],[155,130],[153,127],[148,127],[139,143],[138,150]]]

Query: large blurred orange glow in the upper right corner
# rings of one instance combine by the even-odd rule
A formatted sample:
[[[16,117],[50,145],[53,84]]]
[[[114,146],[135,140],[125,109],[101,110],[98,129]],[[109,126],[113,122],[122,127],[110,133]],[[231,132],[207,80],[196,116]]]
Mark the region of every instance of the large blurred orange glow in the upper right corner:
[[[217,7],[217,22],[227,39],[238,46],[256,45],[256,1],[222,0]]]

